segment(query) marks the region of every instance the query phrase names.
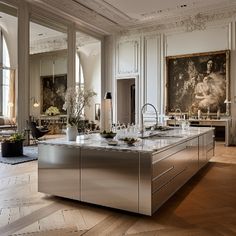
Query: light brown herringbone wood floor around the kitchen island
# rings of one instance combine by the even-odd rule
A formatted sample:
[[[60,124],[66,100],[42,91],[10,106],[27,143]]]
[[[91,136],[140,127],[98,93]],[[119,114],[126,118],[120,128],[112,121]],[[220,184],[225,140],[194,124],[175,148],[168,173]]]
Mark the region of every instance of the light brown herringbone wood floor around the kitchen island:
[[[152,217],[37,192],[37,161],[0,164],[0,235],[236,235],[236,147],[215,157]]]

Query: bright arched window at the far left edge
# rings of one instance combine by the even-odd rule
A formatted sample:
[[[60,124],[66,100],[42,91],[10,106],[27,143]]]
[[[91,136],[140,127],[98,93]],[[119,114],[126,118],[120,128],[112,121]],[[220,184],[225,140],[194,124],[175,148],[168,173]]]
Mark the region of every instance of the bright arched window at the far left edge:
[[[0,47],[1,47],[1,73],[0,73],[0,83],[1,83],[1,102],[0,102],[0,114],[3,116],[8,116],[9,111],[9,82],[10,82],[10,57],[9,51],[4,35],[0,34]]]

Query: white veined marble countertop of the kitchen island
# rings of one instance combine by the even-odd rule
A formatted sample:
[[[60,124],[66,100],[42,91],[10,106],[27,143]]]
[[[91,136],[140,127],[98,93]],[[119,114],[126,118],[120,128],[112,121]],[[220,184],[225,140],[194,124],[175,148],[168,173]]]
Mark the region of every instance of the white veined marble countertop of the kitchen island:
[[[104,139],[100,134],[80,135],[76,141],[67,141],[66,136],[58,139],[48,139],[40,141],[39,144],[46,145],[65,145],[74,147],[86,147],[89,149],[103,149],[116,151],[131,151],[131,152],[157,152],[164,148],[171,147],[188,139],[197,137],[212,130],[209,127],[189,127],[188,129],[173,128],[168,131],[154,131],[155,135],[152,138],[138,139],[133,145],[129,146],[122,140],[117,140],[116,146],[108,144],[107,139]],[[114,138],[114,140],[116,140]]]

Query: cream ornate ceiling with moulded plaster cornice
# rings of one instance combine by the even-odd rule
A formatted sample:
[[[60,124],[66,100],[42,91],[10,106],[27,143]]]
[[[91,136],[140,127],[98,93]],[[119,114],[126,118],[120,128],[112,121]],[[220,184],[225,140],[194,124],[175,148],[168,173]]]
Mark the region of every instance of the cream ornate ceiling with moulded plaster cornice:
[[[102,34],[185,26],[199,29],[206,21],[236,15],[235,0],[32,0],[51,11],[73,17]]]

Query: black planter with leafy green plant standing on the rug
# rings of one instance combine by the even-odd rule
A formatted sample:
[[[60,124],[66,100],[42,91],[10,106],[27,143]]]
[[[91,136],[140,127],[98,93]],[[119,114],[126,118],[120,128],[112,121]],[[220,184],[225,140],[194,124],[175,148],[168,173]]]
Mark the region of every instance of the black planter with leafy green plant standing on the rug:
[[[1,137],[1,149],[3,157],[15,157],[23,155],[24,134],[14,133],[8,137]]]

